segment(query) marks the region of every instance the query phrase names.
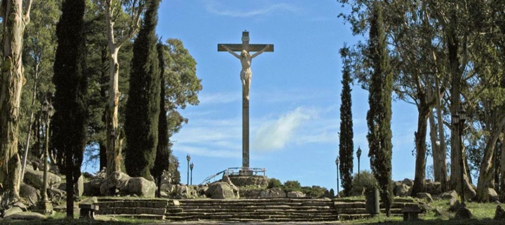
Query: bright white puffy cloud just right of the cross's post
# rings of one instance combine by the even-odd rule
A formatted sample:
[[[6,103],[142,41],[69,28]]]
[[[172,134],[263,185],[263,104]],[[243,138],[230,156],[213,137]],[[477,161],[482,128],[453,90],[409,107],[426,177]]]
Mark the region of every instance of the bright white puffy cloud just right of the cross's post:
[[[298,107],[276,121],[265,122],[258,129],[252,147],[258,151],[284,148],[291,141],[296,129],[315,115],[315,110]]]

